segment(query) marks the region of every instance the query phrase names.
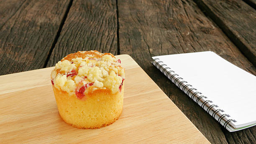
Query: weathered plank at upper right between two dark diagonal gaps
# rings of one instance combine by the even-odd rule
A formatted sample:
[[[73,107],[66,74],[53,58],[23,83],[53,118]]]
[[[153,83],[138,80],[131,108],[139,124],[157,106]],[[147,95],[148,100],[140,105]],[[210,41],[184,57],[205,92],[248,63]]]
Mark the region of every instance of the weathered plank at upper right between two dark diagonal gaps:
[[[256,66],[256,10],[242,0],[195,0]]]

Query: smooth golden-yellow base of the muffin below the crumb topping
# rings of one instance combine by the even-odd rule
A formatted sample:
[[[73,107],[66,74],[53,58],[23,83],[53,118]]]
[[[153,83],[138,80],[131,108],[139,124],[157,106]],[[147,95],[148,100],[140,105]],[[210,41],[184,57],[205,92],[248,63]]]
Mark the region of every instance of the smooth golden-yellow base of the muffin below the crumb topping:
[[[121,92],[114,94],[110,89],[92,91],[93,87],[88,87],[80,100],[75,94],[69,95],[53,86],[59,114],[67,124],[79,129],[97,129],[119,118],[123,110],[124,85]]]

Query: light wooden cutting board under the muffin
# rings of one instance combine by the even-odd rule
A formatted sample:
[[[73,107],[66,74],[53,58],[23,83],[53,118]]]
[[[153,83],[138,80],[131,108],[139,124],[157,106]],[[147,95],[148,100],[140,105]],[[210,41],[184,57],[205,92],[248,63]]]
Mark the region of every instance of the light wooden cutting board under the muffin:
[[[53,67],[0,76],[0,143],[210,143],[130,56],[116,57],[125,68],[123,112],[100,129],[61,119]]]

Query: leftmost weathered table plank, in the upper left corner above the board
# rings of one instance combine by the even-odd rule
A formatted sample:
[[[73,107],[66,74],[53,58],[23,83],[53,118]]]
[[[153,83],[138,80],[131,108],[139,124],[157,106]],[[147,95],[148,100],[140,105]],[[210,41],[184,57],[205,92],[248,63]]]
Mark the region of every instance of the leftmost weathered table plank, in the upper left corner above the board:
[[[0,1],[0,75],[43,68],[69,0]]]

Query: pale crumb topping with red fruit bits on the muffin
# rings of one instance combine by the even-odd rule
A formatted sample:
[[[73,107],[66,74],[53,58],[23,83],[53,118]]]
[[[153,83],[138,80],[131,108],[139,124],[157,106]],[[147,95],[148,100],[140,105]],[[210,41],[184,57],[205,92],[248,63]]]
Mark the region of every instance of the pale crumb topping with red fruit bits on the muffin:
[[[59,90],[82,97],[87,87],[120,91],[125,79],[124,68],[111,53],[78,51],[62,58],[51,72],[51,83]]]

